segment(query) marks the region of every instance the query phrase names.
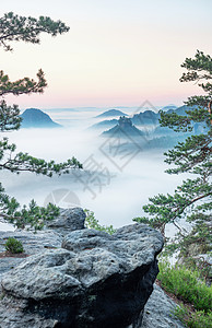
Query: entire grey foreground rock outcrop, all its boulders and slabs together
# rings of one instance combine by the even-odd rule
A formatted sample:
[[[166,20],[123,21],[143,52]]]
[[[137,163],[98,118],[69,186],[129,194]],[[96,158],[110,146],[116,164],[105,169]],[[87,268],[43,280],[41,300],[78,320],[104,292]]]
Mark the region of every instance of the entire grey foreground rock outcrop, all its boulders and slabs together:
[[[92,321],[92,318],[94,318],[94,314],[101,313],[101,311],[99,316],[108,316],[104,323],[105,326],[101,325],[101,327],[120,327],[120,323],[119,326],[113,324],[114,313],[119,314],[121,306],[123,309],[130,308],[130,303],[131,311],[128,309],[128,312],[134,313],[134,316],[131,315],[131,319],[129,317],[126,319],[127,314],[123,314],[122,327],[132,320],[127,326],[128,328],[182,328],[182,324],[173,315],[176,304],[156,284],[154,284],[154,291],[148,300],[144,311],[141,309],[138,314],[138,308],[141,307],[141,296],[139,296],[138,291],[134,293],[136,284],[140,293],[139,286],[143,285],[144,300],[152,290],[151,271],[146,270],[144,274],[145,278],[149,277],[148,282],[141,283],[138,282],[139,279],[137,278],[141,269],[138,266],[138,269],[133,270],[133,266],[137,268],[138,258],[141,265],[142,254],[146,263],[156,256],[162,243],[161,236],[157,233],[155,235],[154,231],[150,231],[145,225],[140,225],[140,227],[130,225],[120,229],[114,235],[115,238],[110,238],[104,233],[96,234],[96,232],[84,230],[84,219],[82,209],[67,209],[61,210],[58,219],[49,222],[44,231],[36,234],[27,231],[0,232],[0,251],[4,251],[4,243],[8,237],[13,236],[23,243],[25,253],[28,255],[26,259],[0,258],[0,276],[4,273],[5,282],[8,279],[7,271],[20,263],[24,266],[23,273],[17,268],[19,274],[13,278],[12,272],[14,270],[10,271],[11,279],[8,280],[8,291],[0,288],[0,328],[98,327]],[[75,230],[81,230],[81,232]],[[71,231],[75,231],[75,233],[70,235]],[[140,234],[139,237],[138,233]],[[152,236],[148,241],[149,233]],[[143,247],[141,247],[140,238],[143,238]],[[90,241],[89,246],[87,241]],[[153,245],[153,241],[156,244]],[[138,245],[136,245],[137,243]],[[146,251],[146,249],[149,250]],[[153,253],[151,254],[151,251]],[[84,254],[86,257],[83,256]],[[36,265],[37,260],[38,266]],[[25,261],[27,261],[28,267]],[[155,268],[153,262],[155,262]],[[152,278],[157,270],[156,261],[153,260],[153,262],[150,266],[146,265],[153,269]],[[114,274],[113,270],[115,271]],[[24,277],[27,279],[25,280]],[[118,277],[126,277],[126,279],[121,280]],[[133,277],[137,280],[133,281]],[[56,283],[54,279],[56,279]],[[140,279],[142,280],[141,277]],[[145,279],[143,278],[143,280]],[[72,289],[69,289],[71,285]],[[104,294],[106,285],[108,289]],[[123,292],[119,293],[121,286]],[[73,296],[74,290],[78,293],[76,296]],[[85,293],[85,291],[91,293]],[[95,291],[99,292],[95,293]],[[96,297],[97,295],[98,297]],[[98,301],[101,302],[98,303]],[[74,314],[78,309],[83,314],[79,320],[74,319],[75,323],[71,321],[73,320],[72,315],[72,319],[66,323],[61,317],[66,317],[71,308]],[[90,323],[85,326],[83,316],[87,312]]]

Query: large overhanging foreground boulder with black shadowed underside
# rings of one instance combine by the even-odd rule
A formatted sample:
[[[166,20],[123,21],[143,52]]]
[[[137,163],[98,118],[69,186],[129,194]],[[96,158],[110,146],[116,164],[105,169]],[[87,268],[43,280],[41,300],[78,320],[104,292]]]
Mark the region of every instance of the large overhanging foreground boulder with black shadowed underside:
[[[111,236],[73,231],[62,248],[34,255],[3,276],[0,327],[139,328],[162,247],[162,235],[143,224]]]

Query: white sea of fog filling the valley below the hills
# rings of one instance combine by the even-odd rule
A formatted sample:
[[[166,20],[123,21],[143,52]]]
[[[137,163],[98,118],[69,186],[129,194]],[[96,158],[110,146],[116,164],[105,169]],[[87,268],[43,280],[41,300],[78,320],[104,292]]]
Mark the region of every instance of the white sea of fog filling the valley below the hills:
[[[109,140],[102,138],[99,130],[90,129],[101,120],[96,115],[102,112],[92,108],[48,110],[46,113],[62,128],[20,129],[7,133],[17,151],[57,162],[75,156],[84,163],[85,169],[51,178],[1,171],[5,191],[21,204],[35,199],[39,206],[49,201],[63,208],[80,206],[94,211],[101,224],[115,227],[131,224],[133,218],[142,215],[142,206],[150,197],[173,194],[186,177],[164,173],[168,165],[164,163],[163,150],[111,154]],[[0,229],[12,227],[0,224]]]

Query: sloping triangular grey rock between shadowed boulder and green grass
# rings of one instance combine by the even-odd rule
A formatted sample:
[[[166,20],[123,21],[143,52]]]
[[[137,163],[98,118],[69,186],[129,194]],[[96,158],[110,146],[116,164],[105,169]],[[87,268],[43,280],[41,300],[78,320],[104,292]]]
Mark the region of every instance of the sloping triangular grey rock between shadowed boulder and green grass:
[[[184,328],[185,326],[173,314],[176,306],[164,291],[154,284],[154,291],[145,305],[140,328]]]

